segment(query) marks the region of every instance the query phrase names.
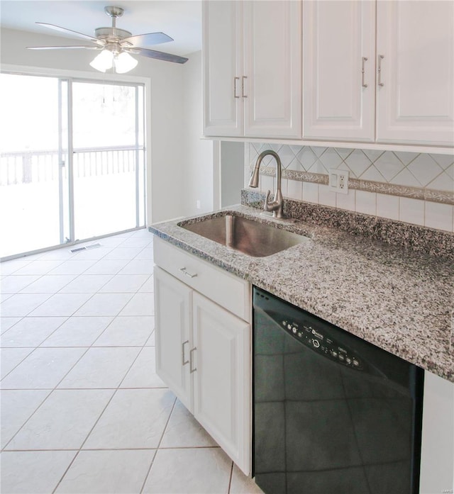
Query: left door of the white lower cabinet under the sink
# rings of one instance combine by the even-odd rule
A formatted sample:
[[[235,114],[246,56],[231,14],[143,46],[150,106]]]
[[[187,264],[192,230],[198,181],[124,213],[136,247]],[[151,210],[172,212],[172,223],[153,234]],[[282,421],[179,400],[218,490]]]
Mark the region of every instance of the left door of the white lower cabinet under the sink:
[[[156,374],[192,410],[189,378],[192,290],[155,266]]]

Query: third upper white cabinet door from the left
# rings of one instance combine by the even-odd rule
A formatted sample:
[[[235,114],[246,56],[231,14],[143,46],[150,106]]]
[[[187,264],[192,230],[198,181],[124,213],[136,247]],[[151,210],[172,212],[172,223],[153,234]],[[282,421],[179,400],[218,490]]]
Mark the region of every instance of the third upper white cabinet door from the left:
[[[375,2],[304,1],[303,50],[304,137],[373,142]]]

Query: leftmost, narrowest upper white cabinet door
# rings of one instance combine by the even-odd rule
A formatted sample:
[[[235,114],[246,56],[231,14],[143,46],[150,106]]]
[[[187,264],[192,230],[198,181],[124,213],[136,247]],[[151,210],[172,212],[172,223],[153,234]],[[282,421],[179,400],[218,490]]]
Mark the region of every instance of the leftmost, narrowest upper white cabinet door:
[[[202,25],[204,135],[243,135],[243,6],[206,0]]]

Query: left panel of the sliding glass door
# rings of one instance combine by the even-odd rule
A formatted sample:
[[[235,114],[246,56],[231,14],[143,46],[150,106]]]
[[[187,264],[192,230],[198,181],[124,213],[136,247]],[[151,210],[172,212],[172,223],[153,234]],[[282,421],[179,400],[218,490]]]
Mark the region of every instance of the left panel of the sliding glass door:
[[[0,257],[66,241],[64,85],[1,74]]]

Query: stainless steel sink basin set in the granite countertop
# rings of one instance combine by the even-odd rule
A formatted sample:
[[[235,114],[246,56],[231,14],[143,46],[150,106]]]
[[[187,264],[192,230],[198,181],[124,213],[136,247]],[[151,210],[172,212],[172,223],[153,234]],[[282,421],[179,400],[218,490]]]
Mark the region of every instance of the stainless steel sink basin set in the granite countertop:
[[[178,225],[253,257],[270,256],[309,240],[308,237],[231,214]]]

